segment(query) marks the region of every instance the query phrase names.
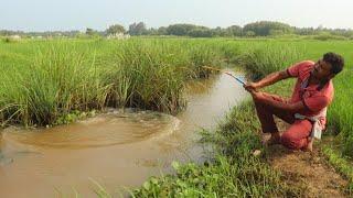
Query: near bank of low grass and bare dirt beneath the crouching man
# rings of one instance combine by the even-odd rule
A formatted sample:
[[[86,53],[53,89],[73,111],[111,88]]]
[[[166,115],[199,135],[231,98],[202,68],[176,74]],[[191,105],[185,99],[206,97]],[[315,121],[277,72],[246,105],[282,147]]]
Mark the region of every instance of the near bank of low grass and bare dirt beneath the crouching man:
[[[284,85],[271,89],[278,92]],[[215,156],[203,165],[173,164],[175,175],[151,178],[133,191],[137,197],[349,197],[349,179],[328,163],[320,143],[312,153],[281,145],[264,147],[250,101],[235,107],[214,132],[203,133]],[[281,124],[281,130],[286,124]],[[254,156],[260,150],[260,156]]]

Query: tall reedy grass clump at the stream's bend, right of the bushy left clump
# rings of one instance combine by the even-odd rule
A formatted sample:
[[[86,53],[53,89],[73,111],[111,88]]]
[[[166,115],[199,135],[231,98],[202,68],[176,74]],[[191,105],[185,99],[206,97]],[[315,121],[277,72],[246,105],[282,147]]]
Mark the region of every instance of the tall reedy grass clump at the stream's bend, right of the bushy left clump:
[[[106,73],[109,105],[175,112],[184,106],[183,74],[157,46],[127,43]]]

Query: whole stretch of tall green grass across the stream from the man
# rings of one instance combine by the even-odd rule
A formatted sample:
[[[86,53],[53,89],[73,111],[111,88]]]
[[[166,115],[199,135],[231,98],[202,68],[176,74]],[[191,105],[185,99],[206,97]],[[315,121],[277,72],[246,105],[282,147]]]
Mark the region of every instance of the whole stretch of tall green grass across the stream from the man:
[[[74,111],[135,107],[175,113],[186,80],[220,67],[200,41],[46,41],[0,45],[0,119],[51,124]],[[21,57],[21,58],[18,58]]]

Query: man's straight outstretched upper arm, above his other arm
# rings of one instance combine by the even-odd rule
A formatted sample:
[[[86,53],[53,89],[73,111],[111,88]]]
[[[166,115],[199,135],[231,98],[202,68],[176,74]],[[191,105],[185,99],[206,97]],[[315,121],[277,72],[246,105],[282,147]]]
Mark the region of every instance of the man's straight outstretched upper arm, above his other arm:
[[[259,89],[272,84],[276,84],[277,81],[280,81],[282,79],[287,79],[291,77],[288,73],[287,69],[286,70],[281,70],[281,72],[276,72],[276,73],[271,73],[269,75],[267,75],[265,78],[263,78],[261,80],[257,81],[257,82],[248,82],[244,86],[244,88],[246,90],[250,90],[250,89]]]

